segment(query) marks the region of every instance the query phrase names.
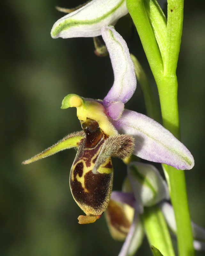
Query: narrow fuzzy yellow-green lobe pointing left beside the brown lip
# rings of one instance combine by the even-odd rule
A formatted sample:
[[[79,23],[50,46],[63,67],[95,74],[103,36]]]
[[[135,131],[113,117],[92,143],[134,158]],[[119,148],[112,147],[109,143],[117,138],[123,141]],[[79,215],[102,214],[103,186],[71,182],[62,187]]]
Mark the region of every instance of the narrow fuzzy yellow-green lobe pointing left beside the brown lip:
[[[43,152],[24,161],[22,164],[30,164],[39,159],[45,158],[47,156],[51,156],[64,149],[78,147],[78,144],[82,139],[83,139],[83,131],[71,133],[66,137],[64,137],[62,140],[59,140],[56,144],[54,144],[50,148],[47,148]]]

